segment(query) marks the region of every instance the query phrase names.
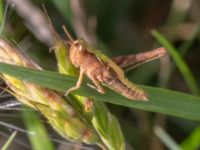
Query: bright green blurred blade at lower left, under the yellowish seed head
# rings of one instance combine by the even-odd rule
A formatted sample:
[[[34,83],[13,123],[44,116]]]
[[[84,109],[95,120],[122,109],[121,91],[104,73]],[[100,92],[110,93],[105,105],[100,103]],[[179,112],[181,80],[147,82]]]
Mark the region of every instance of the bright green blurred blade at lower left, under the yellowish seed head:
[[[33,133],[28,135],[32,148],[34,150],[54,150],[46,129],[37,114],[33,111],[22,111],[22,116],[26,128]]]

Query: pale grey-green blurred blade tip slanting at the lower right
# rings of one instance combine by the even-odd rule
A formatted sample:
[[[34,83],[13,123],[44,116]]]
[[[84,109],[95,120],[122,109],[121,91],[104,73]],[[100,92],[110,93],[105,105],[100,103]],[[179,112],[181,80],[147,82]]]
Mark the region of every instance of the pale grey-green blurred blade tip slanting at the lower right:
[[[154,132],[168,149],[181,150],[179,145],[161,127],[155,127]]]

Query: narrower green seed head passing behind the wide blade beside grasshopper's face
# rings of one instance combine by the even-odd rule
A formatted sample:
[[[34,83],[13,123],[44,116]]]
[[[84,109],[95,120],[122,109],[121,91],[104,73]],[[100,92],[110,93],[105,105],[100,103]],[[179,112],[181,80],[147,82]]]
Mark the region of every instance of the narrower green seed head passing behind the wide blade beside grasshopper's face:
[[[91,50],[90,47],[86,48]],[[59,38],[57,39],[54,52],[58,62],[59,73],[78,76],[78,70],[72,65],[70,59],[66,57],[69,56],[69,50]],[[73,100],[71,101],[73,101],[71,102],[72,106],[76,108],[76,110],[83,115],[83,118],[91,124],[95,131],[98,132],[103,141],[103,144],[99,143],[99,146],[103,149],[106,149],[107,147],[110,150],[116,150],[119,148],[120,150],[124,150],[125,142],[119,122],[115,116],[109,112],[103,102],[94,102],[90,97],[80,97],[77,95],[73,95]]]

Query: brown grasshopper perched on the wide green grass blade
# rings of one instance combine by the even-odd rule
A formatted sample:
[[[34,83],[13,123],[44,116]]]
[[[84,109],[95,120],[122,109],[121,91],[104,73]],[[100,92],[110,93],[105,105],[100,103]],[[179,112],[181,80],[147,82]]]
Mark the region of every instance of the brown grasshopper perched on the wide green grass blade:
[[[132,59],[131,65],[137,66],[138,64],[159,58],[165,54],[164,48],[128,57],[117,57],[113,59],[115,63],[102,52],[91,47],[84,39],[74,40],[65,28],[64,30],[70,39],[68,42],[70,46],[69,59],[76,68],[80,69],[76,86],[69,88],[66,95],[80,88],[83,77],[86,75],[93,82],[95,89],[102,94],[105,93],[102,87],[104,85],[130,100],[148,101],[147,94],[125,77],[124,71],[120,66],[127,68],[130,64],[130,59]],[[125,59],[126,61],[122,63]],[[117,64],[121,65],[118,66]]]

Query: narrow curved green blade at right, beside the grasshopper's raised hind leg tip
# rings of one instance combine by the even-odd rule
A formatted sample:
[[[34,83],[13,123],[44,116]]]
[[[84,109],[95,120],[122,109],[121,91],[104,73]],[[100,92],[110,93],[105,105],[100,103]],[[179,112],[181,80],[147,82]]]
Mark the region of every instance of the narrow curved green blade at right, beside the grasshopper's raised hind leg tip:
[[[184,62],[183,58],[177,52],[176,48],[158,31],[153,30],[152,35],[168,50],[169,54],[172,56],[173,60],[175,61],[178,69],[182,73],[185,81],[187,82],[190,90],[194,94],[199,93],[199,88],[197,82],[195,81],[192,72],[190,71],[187,64]]]

